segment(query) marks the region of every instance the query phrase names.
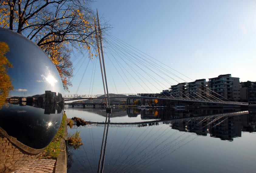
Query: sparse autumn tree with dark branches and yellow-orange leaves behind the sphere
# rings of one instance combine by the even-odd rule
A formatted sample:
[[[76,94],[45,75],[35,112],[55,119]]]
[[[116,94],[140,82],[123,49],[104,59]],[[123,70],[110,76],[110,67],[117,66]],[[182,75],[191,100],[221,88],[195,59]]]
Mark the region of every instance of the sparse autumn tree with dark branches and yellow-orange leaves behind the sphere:
[[[93,57],[95,15],[88,0],[0,0],[0,26],[18,32],[42,48],[56,65],[68,90],[70,53],[86,49]],[[104,30],[106,27],[102,27]]]

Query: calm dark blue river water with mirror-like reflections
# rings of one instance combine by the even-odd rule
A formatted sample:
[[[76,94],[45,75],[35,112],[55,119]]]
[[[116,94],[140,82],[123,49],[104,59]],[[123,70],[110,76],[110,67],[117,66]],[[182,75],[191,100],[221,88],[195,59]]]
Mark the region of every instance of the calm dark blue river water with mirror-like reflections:
[[[64,110],[68,118],[106,121],[103,108]],[[67,171],[256,172],[255,112],[240,108],[112,108],[109,125],[68,129],[70,134],[79,131],[84,145],[68,147]]]

